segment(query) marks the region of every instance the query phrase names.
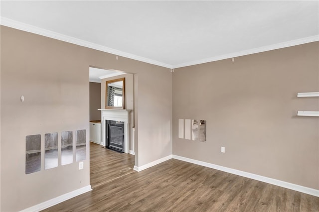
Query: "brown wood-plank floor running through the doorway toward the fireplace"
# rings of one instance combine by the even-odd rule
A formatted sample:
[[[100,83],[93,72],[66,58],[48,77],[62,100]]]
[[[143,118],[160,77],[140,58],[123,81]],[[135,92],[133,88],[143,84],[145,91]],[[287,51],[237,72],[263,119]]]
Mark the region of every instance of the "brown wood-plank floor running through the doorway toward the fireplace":
[[[134,156],[90,148],[93,191],[45,212],[319,211],[318,197],[293,190],[175,159],[135,172]]]

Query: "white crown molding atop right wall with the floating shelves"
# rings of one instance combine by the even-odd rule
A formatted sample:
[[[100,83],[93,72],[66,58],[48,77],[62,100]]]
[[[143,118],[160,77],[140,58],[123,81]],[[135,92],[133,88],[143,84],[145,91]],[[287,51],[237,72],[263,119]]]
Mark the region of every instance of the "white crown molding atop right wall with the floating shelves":
[[[235,52],[235,53],[231,53],[231,54],[225,54],[225,55],[220,55],[220,56],[216,56],[216,57],[210,57],[210,58],[206,58],[206,59],[195,60],[195,61],[186,62],[186,63],[180,63],[177,65],[173,65],[172,69],[182,68],[182,67],[186,67],[186,66],[193,66],[193,65],[198,65],[198,64],[202,64],[202,63],[209,63],[209,62],[229,59],[229,58],[233,58],[233,57],[240,57],[240,56],[245,56],[245,55],[249,55],[249,54],[256,54],[256,53],[260,53],[260,52],[266,52],[266,51],[270,51],[270,50],[281,49],[281,48],[286,48],[286,47],[291,47],[291,46],[297,46],[297,45],[311,43],[311,42],[315,42],[315,41],[319,41],[319,35],[305,37],[305,38],[301,38],[301,39],[297,39],[297,40],[291,40],[291,41],[282,42],[282,43],[277,43],[277,44],[273,44],[273,45],[269,45],[269,46],[263,46],[263,47],[254,48],[254,49],[248,49],[245,51]]]

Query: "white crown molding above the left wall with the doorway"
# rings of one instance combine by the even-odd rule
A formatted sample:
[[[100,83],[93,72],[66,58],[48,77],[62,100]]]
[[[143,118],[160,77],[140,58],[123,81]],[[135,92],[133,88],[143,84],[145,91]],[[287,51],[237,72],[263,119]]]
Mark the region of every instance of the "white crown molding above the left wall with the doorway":
[[[95,50],[99,50],[99,51],[103,51],[106,53],[110,53],[110,54],[114,54],[114,55],[118,55],[121,57],[126,57],[126,58],[130,58],[133,60],[137,60],[137,61],[141,61],[141,62],[145,62],[145,63],[149,63],[149,64],[153,64],[153,65],[157,65],[157,66],[161,66],[161,67],[165,67],[165,68],[171,68],[172,66],[166,63],[162,63],[156,60],[152,60],[149,58],[145,58],[145,57],[141,57],[138,55],[134,55],[134,54],[130,54],[130,53],[126,53],[126,52],[122,52],[116,49],[112,49],[112,48],[108,48],[102,45],[98,45],[95,43],[91,43],[91,42],[87,42],[81,39],[77,39],[68,35],[64,35],[64,34],[60,34],[60,33],[56,33],[50,30],[46,30],[43,28],[39,28],[36,26],[32,26],[26,23],[22,23],[19,21],[15,21],[9,18],[5,18],[5,17],[0,17],[0,25],[3,26],[8,26],[11,28],[15,28],[15,29],[19,29],[22,31],[26,31],[26,32],[31,32],[34,34],[38,34],[38,35],[42,35],[45,37],[50,37],[50,38],[54,38],[57,40],[61,40],[61,41],[65,41],[68,43],[73,43],[79,46],[84,46],[84,47],[88,47],[91,49],[95,49]]]

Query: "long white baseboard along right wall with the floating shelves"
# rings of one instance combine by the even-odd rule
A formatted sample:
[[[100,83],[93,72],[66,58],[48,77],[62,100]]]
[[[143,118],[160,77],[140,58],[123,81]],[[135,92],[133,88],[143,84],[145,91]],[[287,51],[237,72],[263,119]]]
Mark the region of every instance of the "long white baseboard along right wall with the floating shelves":
[[[177,159],[177,160],[182,160],[182,161],[185,161],[185,162],[189,162],[189,163],[205,166],[205,167],[208,167],[208,168],[217,169],[217,170],[220,170],[220,171],[223,171],[223,172],[228,172],[228,173],[231,173],[231,174],[239,175],[239,176],[242,176],[242,177],[247,177],[247,178],[250,178],[250,179],[258,180],[258,181],[261,181],[261,182],[273,184],[273,185],[276,185],[276,186],[284,187],[284,188],[287,188],[287,189],[291,189],[291,190],[295,190],[295,191],[298,191],[298,192],[302,192],[302,193],[305,193],[305,194],[309,194],[309,195],[313,195],[313,196],[319,197],[319,190],[316,190],[316,189],[312,189],[312,188],[308,188],[308,187],[304,187],[304,186],[288,183],[288,182],[281,181],[281,180],[276,180],[276,179],[269,178],[269,177],[264,177],[264,176],[261,176],[261,175],[252,174],[252,173],[249,173],[249,172],[240,171],[240,170],[237,170],[237,169],[231,169],[231,168],[227,168],[227,167],[224,167],[224,166],[215,165],[215,164],[212,164],[212,163],[207,163],[207,162],[203,162],[203,161],[199,161],[199,160],[185,158],[185,157],[181,157],[181,156],[178,156],[178,155],[173,155],[173,158]]]

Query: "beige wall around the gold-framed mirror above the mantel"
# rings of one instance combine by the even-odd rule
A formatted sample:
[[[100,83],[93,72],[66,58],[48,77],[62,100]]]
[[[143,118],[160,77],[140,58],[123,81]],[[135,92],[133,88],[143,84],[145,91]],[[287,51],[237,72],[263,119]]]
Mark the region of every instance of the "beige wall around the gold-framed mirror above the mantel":
[[[134,74],[123,74],[101,80],[101,108],[105,108],[106,81],[125,78],[124,108],[130,111],[129,150],[134,152],[133,126],[134,126]]]

